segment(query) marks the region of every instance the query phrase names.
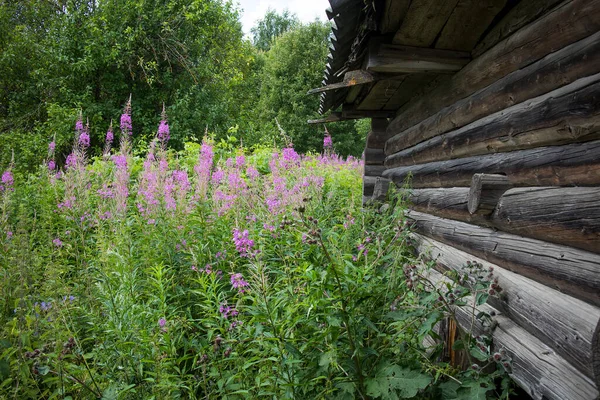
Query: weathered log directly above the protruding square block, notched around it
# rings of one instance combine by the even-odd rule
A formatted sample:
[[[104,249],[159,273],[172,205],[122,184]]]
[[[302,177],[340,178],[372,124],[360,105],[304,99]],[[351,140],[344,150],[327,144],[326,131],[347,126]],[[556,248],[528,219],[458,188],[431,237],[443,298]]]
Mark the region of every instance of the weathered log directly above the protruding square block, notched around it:
[[[473,174],[504,174],[515,186],[600,185],[600,141],[436,161],[386,170],[385,178],[415,188],[469,186]]]

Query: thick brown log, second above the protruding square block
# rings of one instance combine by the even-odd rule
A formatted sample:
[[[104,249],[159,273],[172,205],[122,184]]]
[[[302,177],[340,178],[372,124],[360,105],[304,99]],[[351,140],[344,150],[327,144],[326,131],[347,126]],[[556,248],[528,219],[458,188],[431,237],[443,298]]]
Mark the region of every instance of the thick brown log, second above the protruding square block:
[[[420,164],[598,138],[600,74],[404,149],[390,155],[386,164],[390,167]],[[386,153],[400,146],[398,140],[401,139],[396,136],[386,143]]]

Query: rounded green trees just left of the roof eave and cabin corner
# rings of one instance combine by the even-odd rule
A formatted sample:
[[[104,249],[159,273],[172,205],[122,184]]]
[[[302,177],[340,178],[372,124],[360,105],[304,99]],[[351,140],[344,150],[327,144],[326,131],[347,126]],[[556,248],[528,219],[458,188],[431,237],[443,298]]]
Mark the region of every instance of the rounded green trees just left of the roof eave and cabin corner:
[[[281,128],[300,152],[322,149],[324,128],[306,123],[318,118],[319,97],[306,92],[321,85],[330,31],[329,24],[319,21],[299,25],[276,38],[265,53],[258,103],[263,138],[273,140]],[[340,154],[362,153],[364,136],[353,122],[328,129]]]

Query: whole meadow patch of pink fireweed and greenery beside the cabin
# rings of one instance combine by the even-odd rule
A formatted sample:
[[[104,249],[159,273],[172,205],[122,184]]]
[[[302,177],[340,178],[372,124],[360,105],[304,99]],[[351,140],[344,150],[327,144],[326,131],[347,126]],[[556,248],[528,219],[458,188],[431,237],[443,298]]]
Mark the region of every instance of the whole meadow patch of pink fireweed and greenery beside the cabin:
[[[0,397],[508,397],[510,355],[469,308],[493,273],[433,280],[402,198],[363,208],[362,163],[328,136],[324,155],[174,153],[163,110],[139,157],[130,102],[119,121],[99,158],[80,117],[64,168],[52,141],[36,174],[2,174]],[[425,341],[459,309],[466,371]]]

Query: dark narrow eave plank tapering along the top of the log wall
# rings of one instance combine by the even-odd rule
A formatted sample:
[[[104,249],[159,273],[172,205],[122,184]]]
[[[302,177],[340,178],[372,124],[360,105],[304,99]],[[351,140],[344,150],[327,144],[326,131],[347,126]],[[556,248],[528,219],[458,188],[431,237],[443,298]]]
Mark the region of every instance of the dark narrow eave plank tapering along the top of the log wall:
[[[485,35],[481,42],[477,44],[473,50],[473,57],[479,57],[499,41],[509,37],[525,25],[544,15],[561,1],[562,0],[519,1],[517,5]]]

